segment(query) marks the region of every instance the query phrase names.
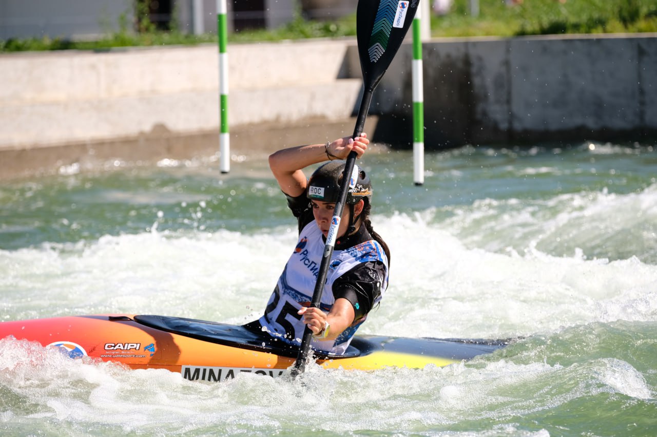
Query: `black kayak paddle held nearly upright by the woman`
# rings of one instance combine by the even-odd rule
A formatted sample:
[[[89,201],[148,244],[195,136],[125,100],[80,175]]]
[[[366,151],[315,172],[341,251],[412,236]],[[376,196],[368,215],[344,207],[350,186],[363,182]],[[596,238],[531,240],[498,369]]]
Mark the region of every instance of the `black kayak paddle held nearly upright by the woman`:
[[[356,126],[353,130],[353,137],[357,137],[363,132],[365,118],[367,118],[367,112],[369,112],[374,88],[376,88],[388,66],[390,66],[390,62],[395,57],[406,32],[413,22],[413,16],[415,16],[415,11],[417,11],[419,3],[419,0],[358,1],[356,35],[358,55],[361,60],[361,70],[363,70],[364,91],[356,118]],[[340,191],[338,192],[338,202],[335,204],[330,229],[328,229],[327,243],[324,247],[324,254],[319,266],[319,273],[311,302],[311,306],[315,308],[319,308],[319,302],[322,298],[322,292],[327,279],[328,264],[333,254],[333,246],[336,241],[342,210],[344,210],[347,191],[353,188],[353,185],[358,180],[357,175],[353,175],[352,177],[355,160],[356,152],[352,151],[344,167],[342,181],[340,182]],[[294,367],[292,367],[292,377],[296,377],[306,369],[312,334],[312,331],[306,327],[299,348],[299,354]]]

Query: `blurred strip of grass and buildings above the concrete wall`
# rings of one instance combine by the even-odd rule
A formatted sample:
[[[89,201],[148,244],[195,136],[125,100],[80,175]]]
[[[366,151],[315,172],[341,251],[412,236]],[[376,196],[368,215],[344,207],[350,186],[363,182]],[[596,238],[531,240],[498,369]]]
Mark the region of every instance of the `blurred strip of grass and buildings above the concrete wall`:
[[[217,0],[3,0],[0,51],[212,41],[218,4]],[[233,42],[355,35],[356,4],[227,0],[227,24]],[[427,0],[423,6],[430,11],[434,37],[657,32],[654,0]]]

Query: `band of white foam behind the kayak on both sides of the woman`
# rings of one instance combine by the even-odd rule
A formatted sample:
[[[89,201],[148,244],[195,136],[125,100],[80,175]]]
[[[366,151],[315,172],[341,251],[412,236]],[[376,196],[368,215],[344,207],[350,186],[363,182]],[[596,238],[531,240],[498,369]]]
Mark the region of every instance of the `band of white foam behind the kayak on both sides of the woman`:
[[[392,251],[390,287],[363,333],[506,338],[592,321],[655,321],[657,266],[467,248],[423,214],[374,217]],[[5,319],[157,313],[260,317],[296,235],[158,233],[0,251]]]

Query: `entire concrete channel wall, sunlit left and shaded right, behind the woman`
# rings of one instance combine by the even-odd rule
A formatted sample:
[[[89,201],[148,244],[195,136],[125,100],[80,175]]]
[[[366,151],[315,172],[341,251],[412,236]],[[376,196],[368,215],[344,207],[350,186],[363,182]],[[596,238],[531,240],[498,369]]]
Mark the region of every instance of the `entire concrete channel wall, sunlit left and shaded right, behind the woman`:
[[[428,150],[657,138],[655,34],[434,40],[423,57]],[[101,145],[124,158],[137,149],[126,144],[142,158],[216,150],[217,64],[214,45],[0,55],[0,178],[45,149],[43,168]],[[376,141],[411,146],[410,70],[405,44],[374,93]],[[229,45],[229,88],[237,152],[351,133],[355,40]]]

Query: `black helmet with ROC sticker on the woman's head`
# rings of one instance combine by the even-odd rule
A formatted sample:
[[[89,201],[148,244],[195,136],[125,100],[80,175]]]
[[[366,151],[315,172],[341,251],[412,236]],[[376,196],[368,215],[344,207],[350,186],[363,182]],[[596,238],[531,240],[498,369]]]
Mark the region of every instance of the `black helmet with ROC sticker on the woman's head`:
[[[306,196],[309,199],[321,200],[322,202],[338,202],[344,165],[344,161],[331,161],[317,168],[308,181]],[[358,174],[358,180],[347,192],[346,204],[354,205],[365,198],[371,202],[372,183],[369,176],[365,173],[365,170],[355,164],[353,171]]]

